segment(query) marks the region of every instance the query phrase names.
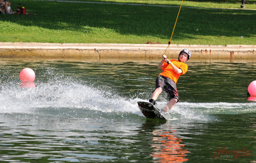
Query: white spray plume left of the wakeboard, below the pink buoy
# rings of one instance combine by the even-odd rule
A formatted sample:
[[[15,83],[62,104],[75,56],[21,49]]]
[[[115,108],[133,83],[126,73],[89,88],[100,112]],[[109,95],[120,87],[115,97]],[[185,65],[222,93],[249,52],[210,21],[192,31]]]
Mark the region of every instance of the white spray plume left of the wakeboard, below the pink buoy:
[[[29,89],[19,88],[17,84],[2,85],[0,90],[0,113],[31,113],[37,108],[139,112],[133,99],[74,82],[42,83]]]

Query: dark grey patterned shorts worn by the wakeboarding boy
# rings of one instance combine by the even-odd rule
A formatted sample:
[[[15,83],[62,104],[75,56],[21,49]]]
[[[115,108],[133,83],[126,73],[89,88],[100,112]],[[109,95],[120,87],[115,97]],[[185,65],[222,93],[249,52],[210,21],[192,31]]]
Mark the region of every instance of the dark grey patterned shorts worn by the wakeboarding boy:
[[[172,98],[176,98],[179,101],[179,94],[177,91],[177,87],[175,82],[172,79],[159,75],[156,78],[155,90],[159,87],[162,88],[162,90],[164,90],[167,93],[169,100]]]

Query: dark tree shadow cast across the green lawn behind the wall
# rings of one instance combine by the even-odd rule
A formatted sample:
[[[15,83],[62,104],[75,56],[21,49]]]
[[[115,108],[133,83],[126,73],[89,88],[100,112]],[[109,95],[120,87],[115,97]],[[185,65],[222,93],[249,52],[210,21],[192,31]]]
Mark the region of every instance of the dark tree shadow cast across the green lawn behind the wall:
[[[20,3],[19,0],[13,1]],[[23,1],[27,12],[36,15],[1,15],[2,21],[49,30],[86,34],[94,28],[110,29],[121,35],[170,39],[179,8],[115,4]],[[182,8],[175,28],[179,39],[200,36],[255,37],[255,11]],[[248,31],[249,29],[249,31]],[[247,32],[246,32],[247,31]],[[118,42],[117,42],[118,43]]]

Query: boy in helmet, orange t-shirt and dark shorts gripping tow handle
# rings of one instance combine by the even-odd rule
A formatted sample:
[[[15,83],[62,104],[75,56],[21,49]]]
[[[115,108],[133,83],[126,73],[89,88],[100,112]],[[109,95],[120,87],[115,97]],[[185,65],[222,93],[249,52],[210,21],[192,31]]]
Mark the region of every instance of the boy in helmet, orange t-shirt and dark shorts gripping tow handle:
[[[163,72],[160,73],[156,79],[156,87],[151,95],[150,103],[156,103],[156,99],[162,90],[164,90],[168,97],[169,102],[161,110],[163,113],[168,113],[169,110],[179,101],[179,94],[177,91],[176,83],[179,77],[185,74],[188,70],[187,64],[185,62],[191,57],[191,53],[188,49],[183,49],[178,57],[178,60],[172,59],[169,61],[166,55],[162,55],[162,61],[159,63],[158,68],[162,69]]]

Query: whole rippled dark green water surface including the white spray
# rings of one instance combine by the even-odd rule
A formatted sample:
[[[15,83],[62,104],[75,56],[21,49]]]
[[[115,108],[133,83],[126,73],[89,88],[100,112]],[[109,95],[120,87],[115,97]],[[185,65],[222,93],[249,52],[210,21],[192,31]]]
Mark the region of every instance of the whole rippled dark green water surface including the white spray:
[[[0,63],[0,162],[255,160],[253,62],[188,62],[171,110],[179,120],[169,122],[147,120],[137,106],[154,89],[158,61]],[[35,71],[35,88],[20,88],[25,67]],[[214,159],[221,146],[252,156]]]

